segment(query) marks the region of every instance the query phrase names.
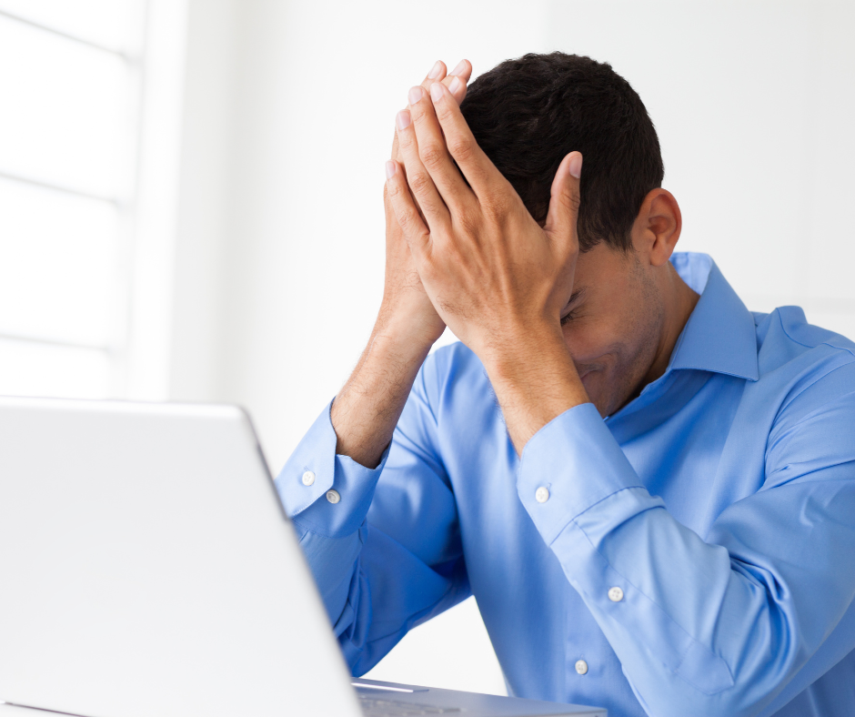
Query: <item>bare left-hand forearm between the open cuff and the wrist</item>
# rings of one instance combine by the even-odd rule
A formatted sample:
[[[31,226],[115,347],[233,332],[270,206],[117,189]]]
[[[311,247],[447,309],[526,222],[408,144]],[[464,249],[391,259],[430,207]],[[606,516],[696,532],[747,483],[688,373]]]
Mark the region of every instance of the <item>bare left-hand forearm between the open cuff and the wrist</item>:
[[[430,346],[381,312],[357,368],[333,402],[337,454],[377,467]]]

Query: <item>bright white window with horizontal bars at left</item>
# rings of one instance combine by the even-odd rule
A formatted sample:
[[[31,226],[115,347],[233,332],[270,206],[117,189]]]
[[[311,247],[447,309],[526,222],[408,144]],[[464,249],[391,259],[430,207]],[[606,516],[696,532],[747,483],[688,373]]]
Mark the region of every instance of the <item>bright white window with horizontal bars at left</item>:
[[[129,393],[155,4],[0,0],[0,394]]]

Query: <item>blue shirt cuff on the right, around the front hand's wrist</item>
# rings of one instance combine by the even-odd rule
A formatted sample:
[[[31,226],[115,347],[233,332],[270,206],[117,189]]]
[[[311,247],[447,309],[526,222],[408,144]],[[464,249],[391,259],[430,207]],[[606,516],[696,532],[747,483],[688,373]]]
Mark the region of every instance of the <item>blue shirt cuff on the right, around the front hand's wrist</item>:
[[[592,403],[550,420],[519,461],[519,500],[548,545],[600,500],[638,487],[638,474]]]

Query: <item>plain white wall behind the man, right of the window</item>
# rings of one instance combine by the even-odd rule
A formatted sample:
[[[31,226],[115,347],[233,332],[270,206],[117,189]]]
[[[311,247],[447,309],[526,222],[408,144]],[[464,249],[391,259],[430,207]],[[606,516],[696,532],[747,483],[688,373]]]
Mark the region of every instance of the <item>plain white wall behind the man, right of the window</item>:
[[[659,129],[682,248],[855,337],[850,2],[191,0],[172,394],[245,405],[277,470],[367,338],[383,162],[437,58],[612,63]],[[502,690],[469,601],[374,676]]]

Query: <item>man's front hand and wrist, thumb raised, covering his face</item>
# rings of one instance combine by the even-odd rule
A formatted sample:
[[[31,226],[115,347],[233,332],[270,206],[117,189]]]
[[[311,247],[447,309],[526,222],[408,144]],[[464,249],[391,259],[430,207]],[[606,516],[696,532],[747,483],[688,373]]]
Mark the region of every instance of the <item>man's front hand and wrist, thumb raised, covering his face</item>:
[[[414,87],[409,100],[388,197],[428,297],[484,363],[521,453],[549,420],[588,401],[560,328],[578,257],[582,157],[572,152],[558,167],[541,228],[448,87]]]

